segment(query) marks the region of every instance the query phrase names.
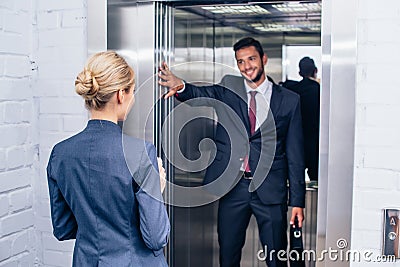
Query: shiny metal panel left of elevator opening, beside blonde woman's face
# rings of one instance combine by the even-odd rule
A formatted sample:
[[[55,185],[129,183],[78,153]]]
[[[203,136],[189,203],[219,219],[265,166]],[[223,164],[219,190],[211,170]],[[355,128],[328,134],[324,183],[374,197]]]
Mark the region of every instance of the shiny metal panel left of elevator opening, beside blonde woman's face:
[[[156,99],[154,10],[153,3],[108,5],[107,16],[107,48],[123,55],[136,72],[135,97],[138,101],[124,123],[124,131],[150,142],[154,142]]]

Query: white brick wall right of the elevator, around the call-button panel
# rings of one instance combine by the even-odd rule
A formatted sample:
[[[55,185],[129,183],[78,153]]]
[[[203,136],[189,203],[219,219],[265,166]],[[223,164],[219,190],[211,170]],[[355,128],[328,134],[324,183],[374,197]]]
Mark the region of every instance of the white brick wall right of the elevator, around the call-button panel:
[[[368,249],[377,256],[382,209],[400,208],[400,2],[358,0],[358,8],[352,249]],[[362,261],[351,266],[383,264]],[[400,261],[384,266],[400,266]]]

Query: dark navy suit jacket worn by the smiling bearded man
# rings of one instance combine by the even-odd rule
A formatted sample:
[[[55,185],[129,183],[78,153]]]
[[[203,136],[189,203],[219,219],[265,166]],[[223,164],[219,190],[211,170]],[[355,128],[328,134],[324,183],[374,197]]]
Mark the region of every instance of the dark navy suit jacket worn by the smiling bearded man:
[[[240,167],[249,151],[253,180],[260,181],[256,187],[261,201],[287,203],[289,182],[289,205],[304,207],[303,135],[297,94],[274,84],[268,118],[253,135],[242,77],[228,75],[220,85],[202,87],[187,83],[176,97],[196,105],[211,105],[216,110],[217,151],[207,168],[206,184],[213,183],[216,187],[228,184],[231,189],[241,176]]]

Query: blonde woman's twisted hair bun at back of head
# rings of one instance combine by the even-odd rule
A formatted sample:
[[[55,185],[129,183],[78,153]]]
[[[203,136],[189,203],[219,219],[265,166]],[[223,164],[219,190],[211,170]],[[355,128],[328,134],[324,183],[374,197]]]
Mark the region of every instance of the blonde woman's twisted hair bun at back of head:
[[[85,69],[78,74],[75,80],[75,91],[86,100],[96,97],[99,84],[91,71]]]

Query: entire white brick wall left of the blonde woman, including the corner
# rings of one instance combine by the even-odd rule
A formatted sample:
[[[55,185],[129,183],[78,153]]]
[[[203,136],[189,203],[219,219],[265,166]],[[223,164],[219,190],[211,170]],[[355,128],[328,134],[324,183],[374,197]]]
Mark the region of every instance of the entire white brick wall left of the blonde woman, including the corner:
[[[45,168],[84,128],[74,79],[86,60],[86,0],[0,1],[0,266],[71,266],[52,235]]]

